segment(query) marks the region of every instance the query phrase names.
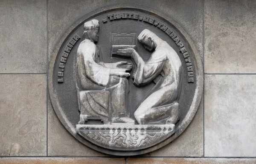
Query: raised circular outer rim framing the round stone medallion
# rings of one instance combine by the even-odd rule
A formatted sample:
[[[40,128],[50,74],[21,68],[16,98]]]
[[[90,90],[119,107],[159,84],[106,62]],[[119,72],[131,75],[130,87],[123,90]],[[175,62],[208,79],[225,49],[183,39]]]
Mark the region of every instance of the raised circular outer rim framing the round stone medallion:
[[[202,67],[201,67],[201,64],[198,63],[198,62],[199,62],[199,60],[198,60],[199,58],[198,58],[198,55],[197,55],[197,50],[196,50],[196,48],[195,48],[195,45],[193,45],[192,41],[190,40],[189,35],[187,35],[186,32],[185,32],[177,23],[175,23],[173,20],[169,19],[169,18],[166,17],[165,15],[161,14],[159,11],[155,11],[154,9],[151,9],[151,8],[145,8],[144,6],[133,6],[133,5],[131,5],[131,4],[128,4],[127,6],[129,6],[130,8],[141,8],[141,9],[143,9],[143,10],[145,10],[145,11],[150,11],[150,12],[152,12],[152,13],[157,13],[157,14],[160,15],[161,17],[165,17],[168,21],[170,21],[172,24],[174,24],[177,28],[181,29],[180,31],[182,32],[182,34],[183,34],[186,38],[188,38],[189,44],[192,46],[192,49],[193,49],[194,53],[196,53],[196,55],[195,55],[195,59],[196,59],[195,63],[197,63],[196,67],[199,69],[199,70],[196,72],[196,76],[197,76],[197,86],[198,86],[198,85],[202,85],[202,80],[201,80],[201,79],[202,79],[202,76],[201,76]],[[126,7],[127,7],[127,6],[126,6]],[[122,5],[112,5],[112,6],[108,6],[107,8],[105,8],[105,10],[113,9],[113,8],[122,8]],[[95,10],[95,11],[93,11],[92,13],[97,13],[97,12],[98,12],[98,13],[99,13],[99,12],[102,12],[102,10],[101,10],[101,9]],[[90,14],[92,14],[92,13],[90,13]],[[89,15],[90,15],[90,14],[89,14]],[[80,22],[81,20],[85,20],[86,17],[88,17],[88,16],[86,15],[86,16],[82,17],[80,20],[78,20],[78,22]],[[75,23],[74,25],[76,26],[77,24]],[[70,29],[68,29],[68,30],[66,31],[66,33],[64,33],[64,35],[63,35],[63,37],[62,37],[61,40],[64,40],[65,36],[67,36],[67,34],[69,34],[70,31],[73,30],[73,28],[74,28],[75,26],[70,27]],[[60,44],[57,45],[57,47],[60,47]],[[57,49],[57,51],[54,51],[54,53],[53,53],[53,55],[52,55],[54,59],[55,59],[55,57],[56,57],[56,55],[57,55],[57,52],[58,52],[58,49]],[[52,61],[53,61],[53,59],[52,59]],[[52,61],[51,61],[51,63],[52,63]],[[53,65],[53,64],[52,64],[52,65]],[[52,67],[51,65],[49,65],[49,75],[50,75],[50,76],[52,75],[52,70],[53,70],[53,67]],[[51,89],[52,87],[53,87],[53,86],[52,86],[52,79],[49,78],[49,93],[50,93],[50,97],[51,97],[51,100],[52,100],[52,103],[53,103],[53,107],[54,107],[54,109],[55,109],[55,111],[56,111],[56,109],[58,109],[58,105],[56,105],[53,100],[57,99],[57,97],[53,96],[53,92],[52,92],[52,89]],[[192,107],[191,107],[190,110],[194,110],[195,108],[198,107],[199,102],[200,102],[201,93],[202,93],[202,90],[201,90],[200,88],[199,88],[199,89],[197,88],[195,95],[198,96],[198,97],[197,97],[197,98],[196,98],[196,97],[194,98],[194,100],[195,100],[196,102],[193,102],[193,103],[192,103]],[[198,101],[199,101],[199,102],[198,102]],[[61,108],[61,107],[60,107],[60,108]],[[195,110],[195,111],[196,111],[196,110]],[[69,131],[70,131],[70,128],[73,129],[73,128],[72,128],[72,125],[70,125],[70,123],[68,123],[69,121],[68,121],[67,119],[65,119],[65,116],[64,116],[64,113],[63,113],[63,112],[59,113],[58,111],[56,111],[56,113],[57,113],[58,117],[60,118],[61,122],[64,124],[64,126],[65,126]],[[195,114],[195,112],[193,112],[193,111],[191,111],[191,112],[188,113],[188,115],[190,115],[190,116],[186,116],[186,118],[187,118],[187,119],[186,119],[186,122],[188,122],[188,123],[190,122],[189,120],[191,120],[191,119],[193,118],[193,116],[194,116],[193,113]],[[190,118],[190,119],[189,119],[189,118]],[[64,122],[63,122],[64,120],[66,120],[65,122],[67,122],[67,123],[64,123]],[[185,120],[184,120],[184,121],[185,121]],[[184,122],[183,126],[187,126],[188,123],[186,123],[186,122]],[[184,128],[183,128],[183,130],[184,130]],[[181,132],[182,132],[183,130],[181,130]],[[71,130],[70,132],[72,132],[72,131],[73,131],[73,130]],[[174,137],[170,137],[170,138],[167,139],[166,141],[163,141],[161,145],[169,143],[170,141],[172,141],[173,139],[175,139],[181,132],[179,132],[178,134],[175,134]],[[102,148],[99,148],[99,147],[95,147],[93,144],[90,144],[89,142],[84,141],[84,140],[82,140],[81,138],[79,138],[79,136],[77,136],[76,133],[72,133],[72,134],[73,134],[77,139],[79,139],[79,141],[83,142],[84,144],[87,144],[88,146],[90,145],[90,147],[92,147],[93,149],[100,150],[100,151],[105,152],[105,153],[108,153],[108,154],[120,155],[120,152],[109,151],[109,150],[105,150],[105,149],[102,149]],[[149,149],[147,149],[147,150],[143,150],[143,153],[146,153],[146,152],[148,152],[148,151],[155,150],[155,149],[157,149],[157,148],[159,148],[159,147],[157,147],[157,146],[156,146],[156,147],[151,147],[151,148],[149,148]],[[133,153],[132,153],[132,152],[128,152],[128,153],[126,153],[125,155],[135,155],[135,154],[140,154],[140,153],[142,153],[142,152],[140,152],[140,151],[133,151]]]

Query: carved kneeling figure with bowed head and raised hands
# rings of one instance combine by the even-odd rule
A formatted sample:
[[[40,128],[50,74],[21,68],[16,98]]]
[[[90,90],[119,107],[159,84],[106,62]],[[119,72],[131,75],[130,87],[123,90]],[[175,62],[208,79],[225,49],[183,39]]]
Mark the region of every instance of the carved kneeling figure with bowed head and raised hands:
[[[140,33],[138,40],[149,51],[154,49],[148,61],[143,61],[133,48],[119,49],[117,54],[131,57],[137,65],[134,85],[145,85],[155,79],[161,84],[140,104],[134,116],[139,124],[161,122],[175,124],[180,115],[178,104],[182,71],[180,58],[167,42],[147,29]]]

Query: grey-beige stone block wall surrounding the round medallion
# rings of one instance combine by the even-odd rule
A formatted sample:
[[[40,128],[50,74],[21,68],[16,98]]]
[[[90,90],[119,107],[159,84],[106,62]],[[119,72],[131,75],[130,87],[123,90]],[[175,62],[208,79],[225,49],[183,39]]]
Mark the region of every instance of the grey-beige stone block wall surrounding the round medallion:
[[[172,143],[135,158],[111,158],[77,141],[47,91],[48,63],[64,31],[115,3],[169,15],[195,42],[204,67],[191,124]],[[256,163],[255,8],[255,0],[0,0],[0,163]],[[84,158],[49,158],[68,156]]]

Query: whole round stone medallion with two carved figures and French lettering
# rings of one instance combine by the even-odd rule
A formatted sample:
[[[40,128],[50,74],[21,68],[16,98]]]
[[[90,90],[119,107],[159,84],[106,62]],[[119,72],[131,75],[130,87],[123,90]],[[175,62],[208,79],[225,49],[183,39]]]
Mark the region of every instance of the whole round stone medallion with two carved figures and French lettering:
[[[166,15],[139,5],[99,8],[61,37],[49,66],[52,106],[66,129],[103,153],[156,150],[191,122],[201,58]]]

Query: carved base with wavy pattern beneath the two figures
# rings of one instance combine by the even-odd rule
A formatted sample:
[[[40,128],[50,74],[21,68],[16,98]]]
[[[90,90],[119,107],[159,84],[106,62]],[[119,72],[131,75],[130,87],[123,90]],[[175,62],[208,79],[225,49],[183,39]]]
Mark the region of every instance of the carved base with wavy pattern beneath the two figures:
[[[89,125],[77,124],[76,131],[92,143],[114,150],[140,150],[151,147],[175,132],[174,124]]]

